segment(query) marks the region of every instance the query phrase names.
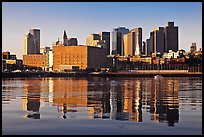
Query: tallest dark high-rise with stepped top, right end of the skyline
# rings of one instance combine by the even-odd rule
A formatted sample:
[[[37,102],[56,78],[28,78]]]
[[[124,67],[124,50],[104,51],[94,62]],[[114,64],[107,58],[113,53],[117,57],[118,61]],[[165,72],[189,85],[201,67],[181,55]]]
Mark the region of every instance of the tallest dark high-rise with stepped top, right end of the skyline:
[[[178,26],[174,26],[174,22],[168,22],[165,27],[165,51],[169,50],[178,51]]]

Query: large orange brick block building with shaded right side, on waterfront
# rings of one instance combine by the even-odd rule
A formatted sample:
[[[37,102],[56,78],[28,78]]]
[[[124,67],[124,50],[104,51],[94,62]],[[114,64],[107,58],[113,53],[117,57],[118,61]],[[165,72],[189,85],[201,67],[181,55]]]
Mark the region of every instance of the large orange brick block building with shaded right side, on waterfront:
[[[53,45],[53,70],[58,71],[60,65],[79,66],[79,69],[106,67],[106,49],[84,45]]]

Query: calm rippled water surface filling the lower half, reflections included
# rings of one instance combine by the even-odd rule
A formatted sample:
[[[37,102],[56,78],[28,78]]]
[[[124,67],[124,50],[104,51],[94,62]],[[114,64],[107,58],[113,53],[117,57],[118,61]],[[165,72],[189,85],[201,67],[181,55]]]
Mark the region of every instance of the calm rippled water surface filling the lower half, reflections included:
[[[202,134],[202,78],[2,79],[2,132]]]

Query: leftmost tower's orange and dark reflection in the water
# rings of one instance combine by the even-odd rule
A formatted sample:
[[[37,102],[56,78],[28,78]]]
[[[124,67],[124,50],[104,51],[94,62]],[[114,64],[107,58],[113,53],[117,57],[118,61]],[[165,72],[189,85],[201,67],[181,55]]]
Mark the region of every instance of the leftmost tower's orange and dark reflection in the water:
[[[27,110],[27,118],[40,119],[40,93],[42,79],[24,80],[23,109]]]

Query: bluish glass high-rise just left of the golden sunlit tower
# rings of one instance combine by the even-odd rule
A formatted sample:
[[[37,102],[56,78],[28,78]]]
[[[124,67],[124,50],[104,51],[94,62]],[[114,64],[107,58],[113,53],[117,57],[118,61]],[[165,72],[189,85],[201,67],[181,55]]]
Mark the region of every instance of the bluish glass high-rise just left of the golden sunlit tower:
[[[115,28],[112,31],[112,46],[111,46],[111,55],[124,55],[124,42],[123,42],[123,36],[124,34],[127,34],[129,32],[129,29],[126,29],[125,27],[119,27]]]

